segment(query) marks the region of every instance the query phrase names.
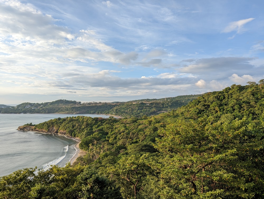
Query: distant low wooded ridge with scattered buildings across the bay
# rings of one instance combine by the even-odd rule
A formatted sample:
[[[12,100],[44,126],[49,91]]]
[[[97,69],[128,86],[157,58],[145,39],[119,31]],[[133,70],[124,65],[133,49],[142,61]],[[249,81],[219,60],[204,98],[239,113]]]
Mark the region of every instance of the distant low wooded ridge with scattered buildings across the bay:
[[[142,117],[156,115],[186,105],[201,95],[183,95],[163,99],[143,99],[128,102],[89,102],[56,100],[46,103],[22,103],[16,107],[0,105],[0,113],[87,113],[110,114],[122,117]]]

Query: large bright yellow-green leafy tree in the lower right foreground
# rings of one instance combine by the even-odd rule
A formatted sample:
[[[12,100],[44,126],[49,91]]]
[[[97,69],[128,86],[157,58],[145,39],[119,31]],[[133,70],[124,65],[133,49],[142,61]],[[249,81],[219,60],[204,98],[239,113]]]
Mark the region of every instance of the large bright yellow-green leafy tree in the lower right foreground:
[[[160,130],[155,147],[164,155],[161,174],[169,190],[162,198],[263,197],[263,125],[246,120],[204,117]]]

